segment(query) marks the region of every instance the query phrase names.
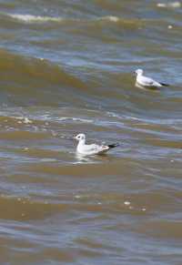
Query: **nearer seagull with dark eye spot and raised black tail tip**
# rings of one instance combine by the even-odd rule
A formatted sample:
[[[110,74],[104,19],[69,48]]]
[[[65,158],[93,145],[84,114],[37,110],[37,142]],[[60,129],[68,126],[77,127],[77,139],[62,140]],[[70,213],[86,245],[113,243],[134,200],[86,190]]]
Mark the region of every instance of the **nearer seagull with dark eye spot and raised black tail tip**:
[[[111,145],[86,145],[86,135],[85,134],[78,134],[75,139],[78,141],[76,152],[85,156],[93,156],[93,155],[101,155],[106,153],[111,148],[116,148],[118,144],[111,144]]]

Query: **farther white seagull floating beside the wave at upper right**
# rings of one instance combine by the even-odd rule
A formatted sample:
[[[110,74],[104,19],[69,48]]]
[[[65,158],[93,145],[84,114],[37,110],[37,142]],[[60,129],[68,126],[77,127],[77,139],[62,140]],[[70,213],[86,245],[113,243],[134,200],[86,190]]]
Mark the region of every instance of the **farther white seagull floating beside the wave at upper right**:
[[[136,73],[136,85],[139,85],[142,87],[151,87],[151,88],[169,86],[165,83],[157,82],[156,80],[150,77],[143,76],[144,71],[142,69],[137,69],[135,73]]]

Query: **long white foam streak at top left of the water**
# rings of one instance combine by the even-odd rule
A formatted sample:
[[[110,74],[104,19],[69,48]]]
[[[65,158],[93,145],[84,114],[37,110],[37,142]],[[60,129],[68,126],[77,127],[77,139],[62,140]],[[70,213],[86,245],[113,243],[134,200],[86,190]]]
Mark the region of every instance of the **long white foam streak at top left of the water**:
[[[41,15],[21,15],[21,14],[7,14],[14,19],[19,21],[23,21],[25,23],[44,23],[44,22],[60,22],[63,20],[62,17],[54,17],[54,16],[41,16]]]

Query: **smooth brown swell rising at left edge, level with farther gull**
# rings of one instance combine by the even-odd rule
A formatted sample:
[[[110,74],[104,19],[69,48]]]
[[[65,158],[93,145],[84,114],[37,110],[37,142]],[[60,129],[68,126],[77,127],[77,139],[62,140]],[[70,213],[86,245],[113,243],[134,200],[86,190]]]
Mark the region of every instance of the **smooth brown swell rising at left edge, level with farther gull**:
[[[24,83],[31,81],[33,84],[39,80],[44,84],[65,85],[66,87],[86,87],[76,76],[72,76],[61,67],[44,58],[32,58],[15,55],[4,49],[0,50],[0,66],[5,71],[5,76],[10,81],[21,80]],[[2,76],[2,79],[5,78]],[[3,81],[3,80],[2,80]]]

